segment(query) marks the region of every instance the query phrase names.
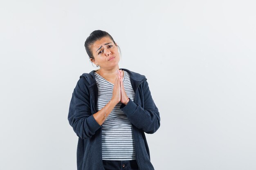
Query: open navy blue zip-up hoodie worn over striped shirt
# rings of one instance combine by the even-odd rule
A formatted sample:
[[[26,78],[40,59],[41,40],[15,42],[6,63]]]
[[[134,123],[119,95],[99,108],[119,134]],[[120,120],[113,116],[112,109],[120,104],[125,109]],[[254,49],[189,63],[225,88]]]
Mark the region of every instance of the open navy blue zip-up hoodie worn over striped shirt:
[[[130,74],[135,91],[134,101],[121,104],[133,128],[135,152],[139,170],[154,170],[144,132],[152,134],[160,126],[160,115],[155,105],[146,77],[121,68]],[[68,121],[79,137],[77,145],[77,170],[104,170],[101,152],[101,126],[92,116],[97,113],[98,87],[94,70],[83,73],[78,80],[68,113]]]

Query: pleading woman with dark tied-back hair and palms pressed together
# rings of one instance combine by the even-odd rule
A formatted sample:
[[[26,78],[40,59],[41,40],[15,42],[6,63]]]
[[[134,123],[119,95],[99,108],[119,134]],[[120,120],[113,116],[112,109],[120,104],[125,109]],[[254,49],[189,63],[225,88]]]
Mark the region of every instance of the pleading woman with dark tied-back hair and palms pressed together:
[[[101,30],[85,41],[90,61],[100,68],[80,76],[70,102],[78,170],[154,170],[144,132],[159,128],[159,111],[146,77],[119,69],[118,47]]]

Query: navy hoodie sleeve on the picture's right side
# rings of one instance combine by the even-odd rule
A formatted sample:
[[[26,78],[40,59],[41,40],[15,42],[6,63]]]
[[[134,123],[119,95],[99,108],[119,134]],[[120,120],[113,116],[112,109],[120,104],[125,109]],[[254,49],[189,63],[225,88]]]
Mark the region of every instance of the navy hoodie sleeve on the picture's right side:
[[[160,115],[151,96],[148,82],[144,81],[140,86],[144,96],[144,108],[130,99],[126,105],[121,104],[120,109],[134,126],[146,133],[152,134],[160,126]]]

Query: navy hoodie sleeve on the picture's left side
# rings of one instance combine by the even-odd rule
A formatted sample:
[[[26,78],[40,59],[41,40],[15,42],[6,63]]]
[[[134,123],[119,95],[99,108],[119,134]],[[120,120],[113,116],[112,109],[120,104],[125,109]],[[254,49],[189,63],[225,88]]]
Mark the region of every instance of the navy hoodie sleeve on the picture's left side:
[[[90,108],[90,93],[87,80],[81,77],[74,88],[68,113],[69,124],[82,139],[90,138],[101,127],[94,119]]]

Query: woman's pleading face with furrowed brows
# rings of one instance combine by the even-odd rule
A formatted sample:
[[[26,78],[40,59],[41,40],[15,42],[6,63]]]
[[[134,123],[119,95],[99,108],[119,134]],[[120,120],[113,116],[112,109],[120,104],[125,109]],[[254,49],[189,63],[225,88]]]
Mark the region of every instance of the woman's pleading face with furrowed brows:
[[[120,55],[117,44],[109,37],[103,37],[94,42],[91,46],[94,60],[92,62],[104,69],[116,68],[119,63]]]

